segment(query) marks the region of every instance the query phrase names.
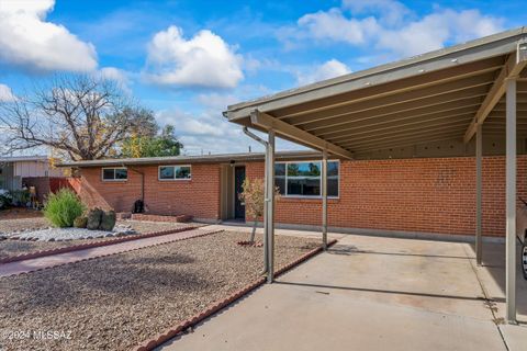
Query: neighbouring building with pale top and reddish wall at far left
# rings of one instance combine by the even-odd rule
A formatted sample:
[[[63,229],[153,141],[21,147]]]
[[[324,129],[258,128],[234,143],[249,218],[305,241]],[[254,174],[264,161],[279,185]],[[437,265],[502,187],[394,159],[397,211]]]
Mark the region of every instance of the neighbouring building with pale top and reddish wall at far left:
[[[0,189],[19,190],[35,186],[43,201],[65,179],[65,169],[55,168],[46,156],[15,156],[0,158]]]

